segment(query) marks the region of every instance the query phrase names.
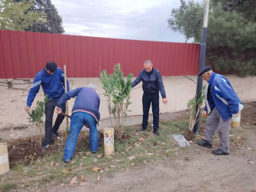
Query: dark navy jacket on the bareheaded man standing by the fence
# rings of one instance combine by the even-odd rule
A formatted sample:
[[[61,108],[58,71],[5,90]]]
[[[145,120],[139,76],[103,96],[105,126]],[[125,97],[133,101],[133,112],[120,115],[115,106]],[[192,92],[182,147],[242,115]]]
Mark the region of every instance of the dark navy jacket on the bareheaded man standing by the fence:
[[[160,71],[153,68],[149,73],[142,70],[135,81],[132,82],[131,88],[134,88],[139,82],[142,81],[142,89],[144,94],[157,94],[161,93],[161,98],[166,98],[165,87],[161,79]]]

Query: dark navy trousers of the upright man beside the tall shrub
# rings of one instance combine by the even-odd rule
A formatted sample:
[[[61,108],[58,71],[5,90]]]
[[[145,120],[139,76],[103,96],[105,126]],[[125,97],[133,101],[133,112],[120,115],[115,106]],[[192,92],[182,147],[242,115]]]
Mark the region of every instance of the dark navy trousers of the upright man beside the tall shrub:
[[[153,127],[154,129],[158,130],[159,94],[143,94],[142,96],[142,105],[143,105],[142,127],[147,128],[148,126],[148,112],[151,104],[152,104],[152,113],[153,113]]]

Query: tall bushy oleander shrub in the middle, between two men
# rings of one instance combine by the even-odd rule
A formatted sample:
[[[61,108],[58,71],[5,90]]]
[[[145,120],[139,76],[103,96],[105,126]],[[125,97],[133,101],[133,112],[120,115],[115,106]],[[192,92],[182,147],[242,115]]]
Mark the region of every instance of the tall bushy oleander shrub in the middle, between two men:
[[[115,65],[112,74],[108,74],[105,70],[100,74],[101,87],[105,90],[105,97],[108,101],[109,117],[118,138],[121,138],[124,132],[125,117],[128,105],[131,104],[129,100],[132,76],[132,74],[128,74],[125,81],[120,64]]]

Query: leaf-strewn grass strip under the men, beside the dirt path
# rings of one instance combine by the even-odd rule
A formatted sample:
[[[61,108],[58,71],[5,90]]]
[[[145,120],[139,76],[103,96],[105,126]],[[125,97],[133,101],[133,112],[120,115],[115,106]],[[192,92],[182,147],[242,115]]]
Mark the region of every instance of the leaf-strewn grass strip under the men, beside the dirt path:
[[[171,140],[171,134],[183,134],[188,128],[188,121],[165,121],[159,124],[159,136],[155,136],[152,127],[148,126],[146,131],[138,132],[136,126],[125,127],[125,134],[121,139],[115,138],[115,157],[104,157],[103,134],[99,133],[99,149],[96,154],[91,154],[89,144],[89,133],[81,132],[75,150],[75,156],[71,164],[62,161],[66,138],[56,141],[55,148],[47,151],[42,158],[15,164],[12,167],[12,177],[5,177],[1,190],[12,190],[17,186],[12,184],[14,180],[20,180],[31,188],[42,187],[52,182],[68,184],[72,177],[81,175],[93,176],[95,174],[113,174],[115,171],[125,170],[141,164],[151,164],[159,159],[165,159],[172,155],[171,148],[177,147]],[[92,167],[99,167],[101,171],[95,173]],[[43,177],[48,174],[48,177]],[[2,176],[3,177],[3,176]],[[2,178],[0,177],[0,179]],[[24,181],[24,178],[41,178],[37,181]]]

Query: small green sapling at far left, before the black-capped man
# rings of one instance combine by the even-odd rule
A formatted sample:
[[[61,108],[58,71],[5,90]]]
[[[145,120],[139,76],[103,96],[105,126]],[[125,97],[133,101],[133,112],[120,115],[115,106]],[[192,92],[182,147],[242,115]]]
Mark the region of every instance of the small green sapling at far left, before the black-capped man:
[[[37,142],[35,143],[35,148],[37,147],[41,148],[42,146],[42,130],[45,125],[45,121],[43,121],[43,117],[45,114],[45,104],[47,104],[49,100],[50,99],[48,98],[48,95],[45,95],[45,98],[43,99],[43,101],[37,101],[35,109],[33,109],[32,111],[28,111],[29,122],[32,122],[33,124],[35,124],[35,127],[39,129],[39,136],[36,137]]]

